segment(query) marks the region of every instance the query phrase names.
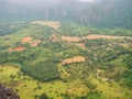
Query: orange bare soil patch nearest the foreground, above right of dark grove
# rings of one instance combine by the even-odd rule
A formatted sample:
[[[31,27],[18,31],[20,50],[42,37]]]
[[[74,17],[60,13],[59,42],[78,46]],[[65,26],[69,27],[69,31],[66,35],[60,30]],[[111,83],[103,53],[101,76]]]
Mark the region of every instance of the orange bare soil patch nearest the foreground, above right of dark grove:
[[[62,61],[62,64],[72,64],[72,63],[78,63],[78,62],[86,62],[85,57],[74,56],[73,58],[67,58],[67,59]]]

